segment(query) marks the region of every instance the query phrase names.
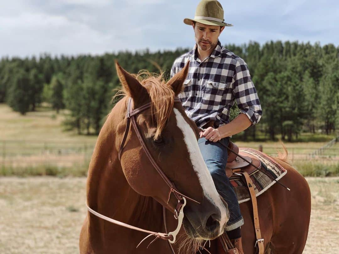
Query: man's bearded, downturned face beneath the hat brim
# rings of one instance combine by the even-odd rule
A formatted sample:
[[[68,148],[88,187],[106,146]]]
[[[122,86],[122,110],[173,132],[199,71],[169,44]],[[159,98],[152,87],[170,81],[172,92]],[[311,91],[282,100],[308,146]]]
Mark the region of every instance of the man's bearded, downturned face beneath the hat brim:
[[[195,33],[195,41],[199,49],[203,51],[215,48],[218,44],[219,35],[225,28],[224,26],[204,25],[199,22],[195,24],[192,22],[192,26]]]

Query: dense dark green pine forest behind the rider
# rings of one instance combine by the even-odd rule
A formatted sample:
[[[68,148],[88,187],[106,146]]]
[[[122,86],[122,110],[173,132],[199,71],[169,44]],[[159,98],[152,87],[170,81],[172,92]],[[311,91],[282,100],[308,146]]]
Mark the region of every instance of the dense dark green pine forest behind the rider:
[[[261,121],[243,135],[256,139],[258,130],[267,139],[277,135],[291,141],[300,132],[330,134],[339,122],[339,47],[319,43],[250,42],[225,48],[245,60],[263,109]],[[131,73],[142,69],[165,72],[169,79],[174,60],[190,51],[178,48],[150,52],[120,51],[101,56],[2,58],[0,103],[25,114],[47,102],[53,109],[67,109],[64,126],[79,134],[99,133],[120,82],[114,61]],[[236,106],[232,117],[238,113]]]

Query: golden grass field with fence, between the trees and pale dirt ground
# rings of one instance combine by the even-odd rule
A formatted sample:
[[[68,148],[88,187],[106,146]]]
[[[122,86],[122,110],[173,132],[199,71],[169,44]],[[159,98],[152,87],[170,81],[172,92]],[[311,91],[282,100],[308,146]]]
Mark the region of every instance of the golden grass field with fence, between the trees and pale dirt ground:
[[[65,111],[56,114],[48,107],[38,107],[36,112],[22,116],[0,104],[0,175],[85,176],[97,136],[63,131],[64,114]],[[236,139],[236,135],[234,137]],[[284,143],[288,158],[304,175],[338,175],[339,143],[312,160],[307,157],[333,137],[335,135],[303,133],[300,140],[319,142]],[[263,152],[270,155],[282,151],[280,142],[236,143],[239,147],[254,149],[262,145]]]

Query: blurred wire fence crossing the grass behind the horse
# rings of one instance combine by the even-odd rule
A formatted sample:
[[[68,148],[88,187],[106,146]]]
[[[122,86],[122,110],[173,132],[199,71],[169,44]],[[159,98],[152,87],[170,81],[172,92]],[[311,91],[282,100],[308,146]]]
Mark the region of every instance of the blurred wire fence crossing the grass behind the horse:
[[[0,140],[0,167],[88,167],[94,149],[94,143],[76,141],[36,141],[36,140]],[[263,143],[262,151],[269,155],[277,155],[281,147],[268,146]],[[251,147],[259,150],[258,147]],[[320,161],[323,163],[339,163],[339,143],[322,148],[314,153],[314,147],[288,147],[288,158],[296,161]]]

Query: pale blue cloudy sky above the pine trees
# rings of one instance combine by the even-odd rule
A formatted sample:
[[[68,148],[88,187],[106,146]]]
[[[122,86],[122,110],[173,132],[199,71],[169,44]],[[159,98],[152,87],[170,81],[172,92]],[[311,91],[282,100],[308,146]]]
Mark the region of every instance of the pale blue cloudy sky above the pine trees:
[[[0,57],[193,47],[195,0],[9,0],[0,3]],[[269,40],[339,45],[338,0],[220,0],[222,44]]]

